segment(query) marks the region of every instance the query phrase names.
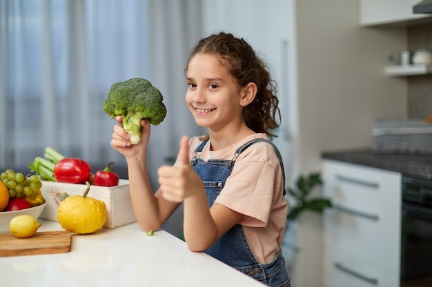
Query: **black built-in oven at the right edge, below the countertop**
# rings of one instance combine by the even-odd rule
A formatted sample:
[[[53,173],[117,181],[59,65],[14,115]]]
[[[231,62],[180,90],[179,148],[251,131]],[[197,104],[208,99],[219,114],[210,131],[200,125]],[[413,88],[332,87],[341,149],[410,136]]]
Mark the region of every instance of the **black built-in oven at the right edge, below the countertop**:
[[[400,287],[432,286],[432,180],[402,176]]]

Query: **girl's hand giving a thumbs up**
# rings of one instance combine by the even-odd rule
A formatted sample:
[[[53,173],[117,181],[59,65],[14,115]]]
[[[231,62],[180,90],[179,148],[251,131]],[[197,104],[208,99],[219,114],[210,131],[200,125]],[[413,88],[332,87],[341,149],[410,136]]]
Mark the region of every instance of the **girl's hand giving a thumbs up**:
[[[180,139],[180,149],[175,166],[163,166],[157,170],[162,196],[170,202],[183,202],[186,198],[204,192],[201,178],[190,166],[189,138]]]

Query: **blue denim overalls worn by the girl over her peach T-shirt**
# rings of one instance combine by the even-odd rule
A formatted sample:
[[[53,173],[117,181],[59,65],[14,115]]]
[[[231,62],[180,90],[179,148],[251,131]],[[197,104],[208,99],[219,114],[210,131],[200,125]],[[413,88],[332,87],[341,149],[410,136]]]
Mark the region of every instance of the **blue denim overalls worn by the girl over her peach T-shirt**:
[[[232,160],[208,160],[208,162],[204,162],[200,155],[207,141],[208,140],[205,140],[197,147],[195,150],[195,156],[190,161],[190,164],[202,178],[206,189],[208,206],[213,205],[217,195],[219,195],[220,191],[224,188],[226,179],[230,176],[235,160],[239,154],[255,142],[268,142],[275,148],[282,167],[282,173],[284,173],[284,166],[282,164],[280,153],[277,147],[270,140],[255,138],[246,142],[242,147],[237,149]],[[235,224],[235,226],[222,235],[222,237],[220,237],[213,246],[204,252],[268,286],[291,286],[290,278],[286,272],[285,260],[284,257],[282,257],[282,252],[279,251],[273,262],[269,264],[260,264],[257,262],[255,255],[253,255],[246,240],[246,236],[244,235],[243,227],[240,224]]]

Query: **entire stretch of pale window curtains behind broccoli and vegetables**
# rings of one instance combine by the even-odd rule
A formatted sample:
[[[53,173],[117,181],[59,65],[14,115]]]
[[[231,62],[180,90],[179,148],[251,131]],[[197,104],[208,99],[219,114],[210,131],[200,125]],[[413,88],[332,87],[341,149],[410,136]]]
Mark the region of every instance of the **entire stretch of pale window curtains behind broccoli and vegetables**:
[[[102,102],[110,85],[148,78],[164,94],[150,170],[197,134],[184,65],[202,36],[199,0],[0,0],[0,167],[28,168],[50,146],[90,164],[124,158],[110,147]],[[118,163],[118,164],[117,164]],[[154,180],[153,180],[154,182]]]

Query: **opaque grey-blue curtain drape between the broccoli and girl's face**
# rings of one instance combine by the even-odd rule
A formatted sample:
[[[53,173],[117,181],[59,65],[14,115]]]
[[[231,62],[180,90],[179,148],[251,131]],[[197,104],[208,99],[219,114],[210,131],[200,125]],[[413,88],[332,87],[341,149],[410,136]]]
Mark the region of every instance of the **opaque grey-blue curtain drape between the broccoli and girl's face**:
[[[148,160],[155,167],[177,158],[179,139],[184,134],[195,136],[204,131],[197,127],[186,106],[184,69],[190,49],[202,37],[201,0],[148,1],[150,41],[148,79],[164,94],[167,115],[164,128],[152,127]],[[166,151],[165,153],[162,153]],[[161,155],[164,158],[161,158]],[[150,169],[155,178],[156,169]]]

